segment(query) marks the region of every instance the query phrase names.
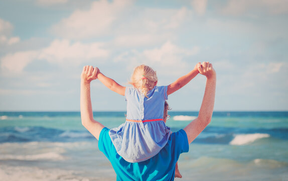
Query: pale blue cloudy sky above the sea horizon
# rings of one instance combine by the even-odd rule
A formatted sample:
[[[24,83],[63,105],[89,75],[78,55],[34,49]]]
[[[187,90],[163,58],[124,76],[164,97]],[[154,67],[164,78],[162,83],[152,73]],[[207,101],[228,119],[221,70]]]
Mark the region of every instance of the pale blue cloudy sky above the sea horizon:
[[[0,0],[0,111],[80,111],[83,66],[130,86],[140,64],[168,85],[209,61],[215,111],[288,111],[288,1]],[[198,74],[169,96],[199,111]],[[91,82],[93,111],[125,111],[124,97]]]

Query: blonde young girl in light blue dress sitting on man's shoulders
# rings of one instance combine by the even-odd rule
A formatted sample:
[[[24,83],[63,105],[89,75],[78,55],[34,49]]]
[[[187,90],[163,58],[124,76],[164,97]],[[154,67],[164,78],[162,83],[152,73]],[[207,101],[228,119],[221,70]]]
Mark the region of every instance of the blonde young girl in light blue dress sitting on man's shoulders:
[[[135,67],[130,84],[119,85],[99,69],[96,77],[112,91],[125,96],[125,123],[109,131],[117,153],[128,162],[140,162],[155,156],[167,143],[170,128],[163,121],[164,104],[168,95],[178,91],[199,73],[197,65],[188,74],[167,86],[156,86],[156,72],[149,66]]]

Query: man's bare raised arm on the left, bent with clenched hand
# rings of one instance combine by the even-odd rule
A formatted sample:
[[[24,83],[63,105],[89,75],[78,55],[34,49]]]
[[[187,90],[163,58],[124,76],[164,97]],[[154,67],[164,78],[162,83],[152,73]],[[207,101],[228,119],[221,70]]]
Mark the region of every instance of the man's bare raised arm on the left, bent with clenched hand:
[[[96,79],[97,68],[84,66],[81,74],[80,110],[82,125],[99,140],[99,135],[104,126],[93,119],[90,97],[90,82]]]

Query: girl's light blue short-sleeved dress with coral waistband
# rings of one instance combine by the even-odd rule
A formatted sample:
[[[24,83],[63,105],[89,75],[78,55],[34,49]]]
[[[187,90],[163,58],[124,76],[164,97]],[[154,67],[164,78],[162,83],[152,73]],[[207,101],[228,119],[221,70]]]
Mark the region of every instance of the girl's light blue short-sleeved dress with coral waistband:
[[[126,87],[126,121],[109,131],[117,153],[128,162],[145,161],[155,156],[171,134],[163,121],[167,86],[155,86],[147,97],[137,88]]]

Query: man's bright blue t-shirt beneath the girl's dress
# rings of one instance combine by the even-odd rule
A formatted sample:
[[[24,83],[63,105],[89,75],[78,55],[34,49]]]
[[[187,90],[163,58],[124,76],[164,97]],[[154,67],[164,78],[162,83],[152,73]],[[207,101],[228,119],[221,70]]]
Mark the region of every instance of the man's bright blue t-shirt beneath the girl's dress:
[[[108,132],[108,128],[102,129],[98,147],[111,162],[117,180],[174,180],[175,165],[180,154],[189,151],[187,134],[180,130],[170,135],[167,144],[154,157],[130,163],[117,154]]]

